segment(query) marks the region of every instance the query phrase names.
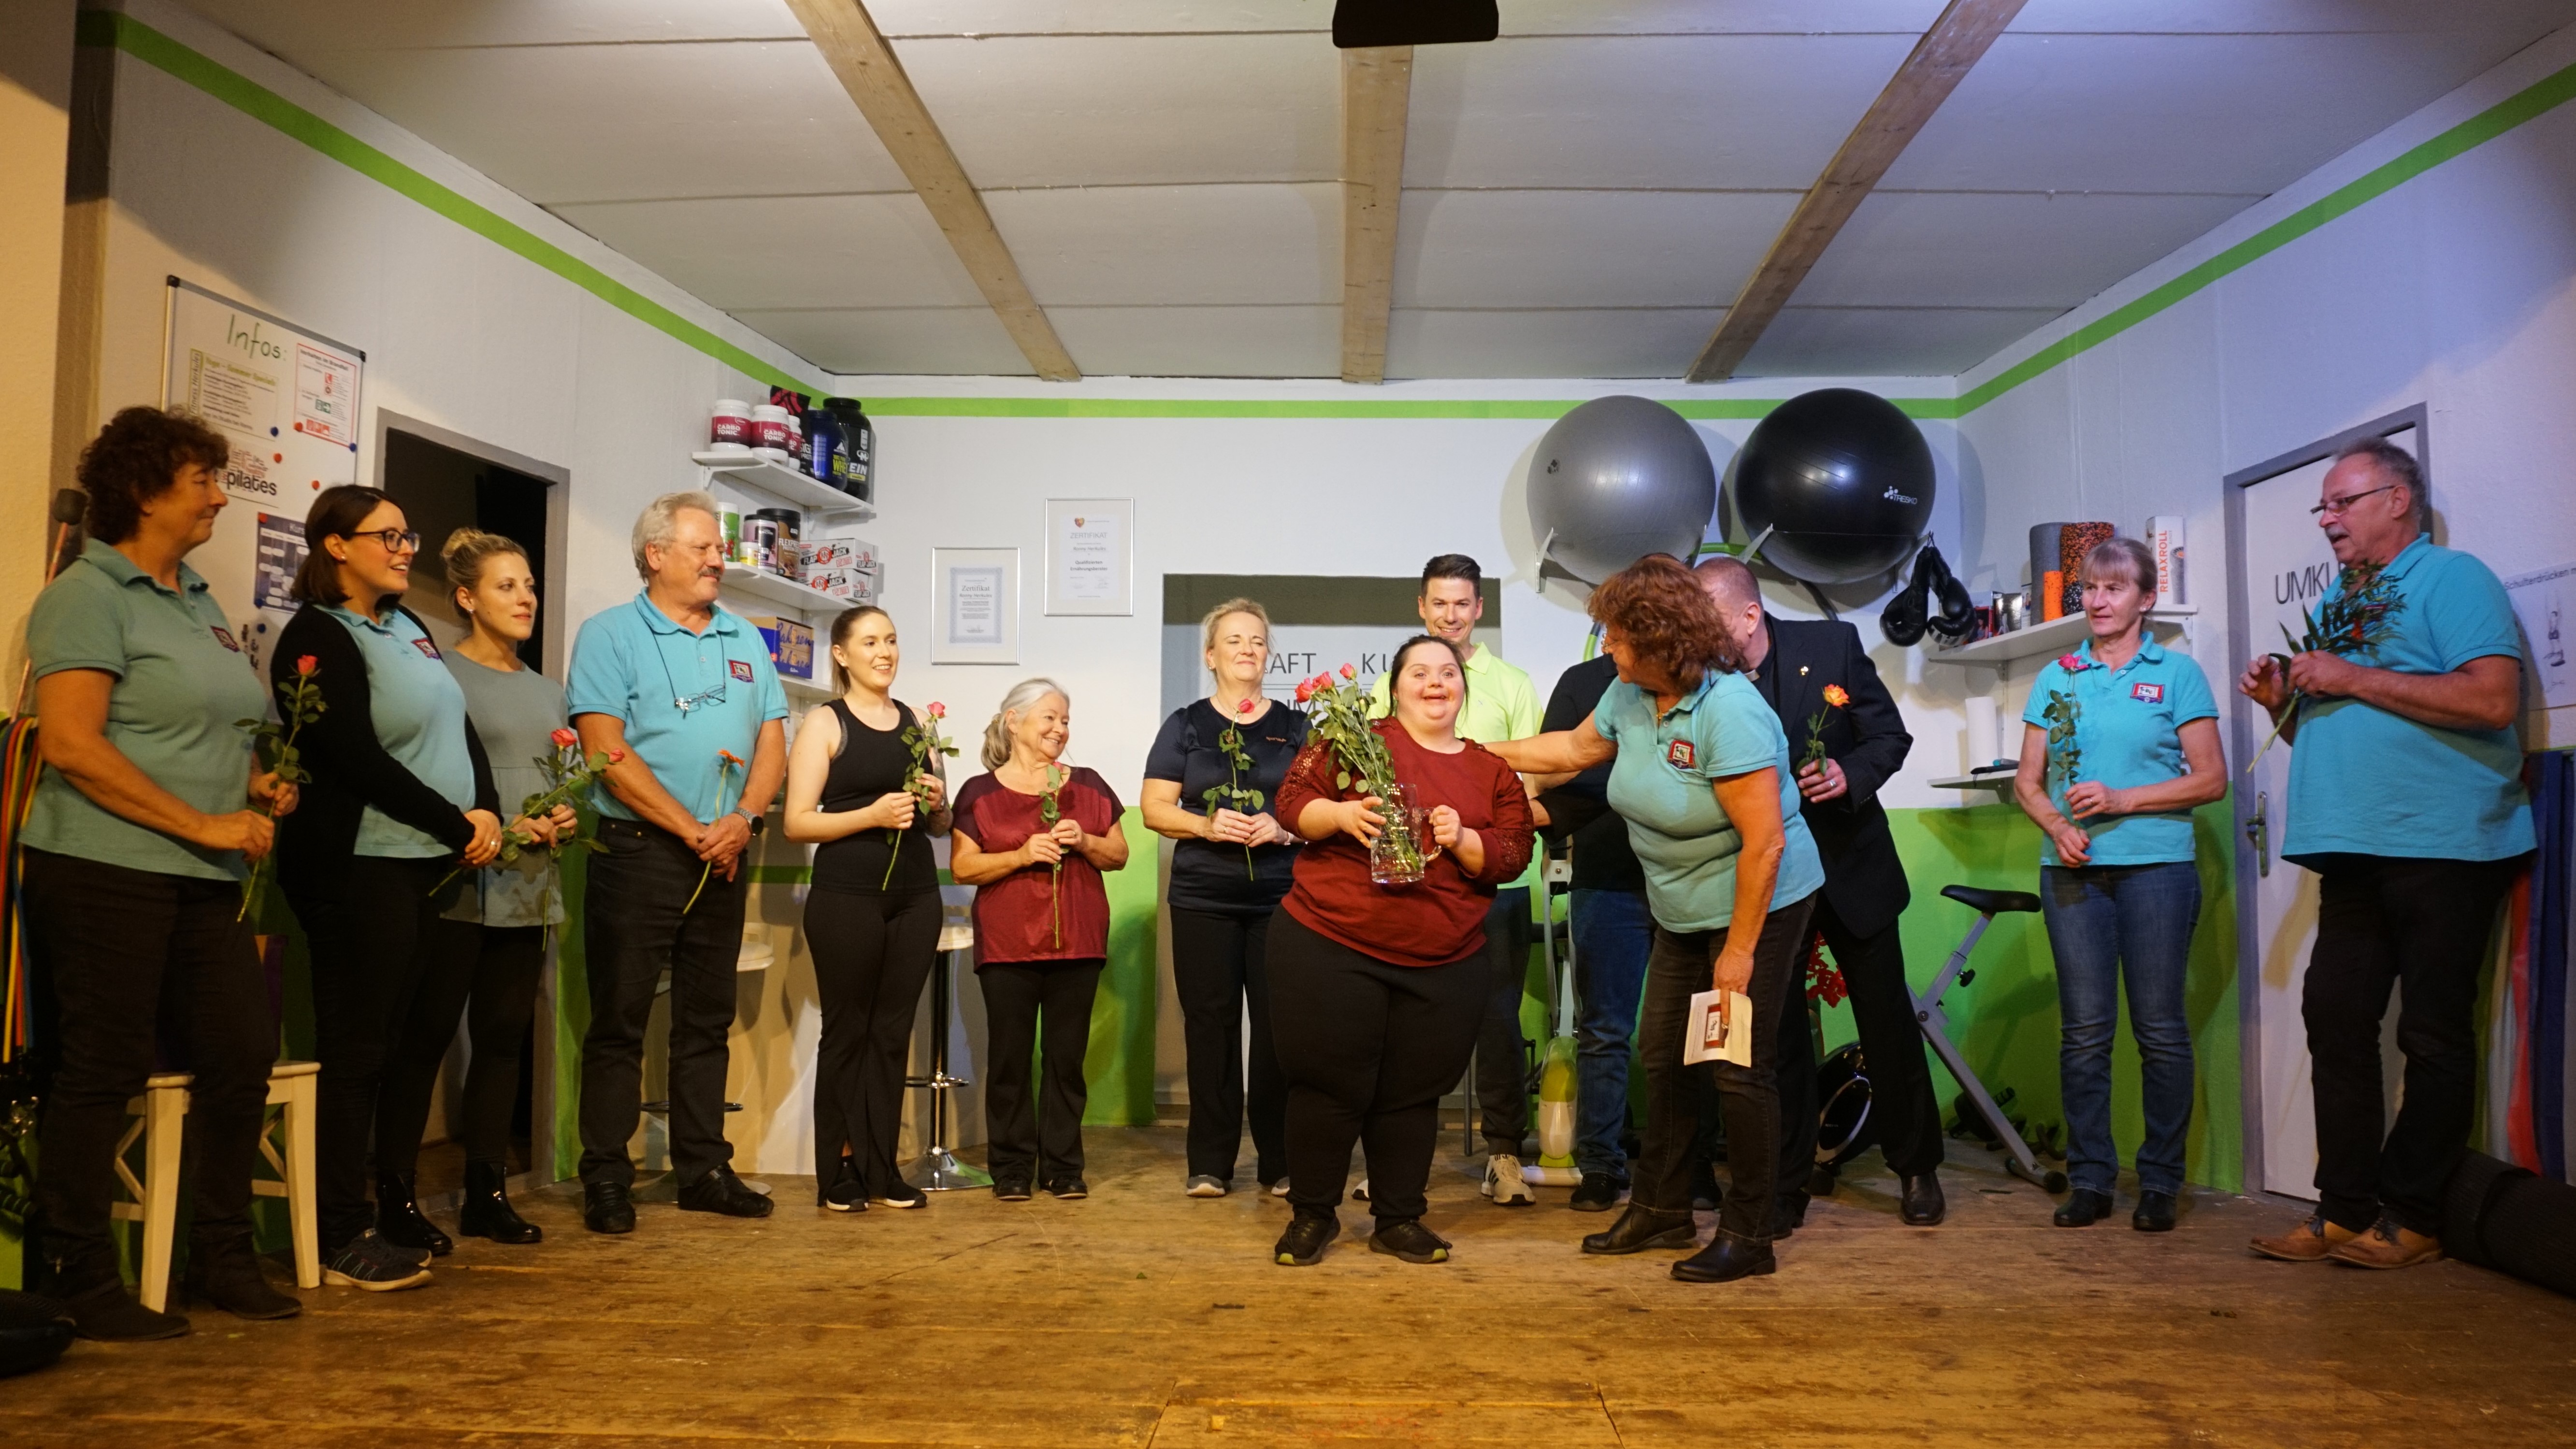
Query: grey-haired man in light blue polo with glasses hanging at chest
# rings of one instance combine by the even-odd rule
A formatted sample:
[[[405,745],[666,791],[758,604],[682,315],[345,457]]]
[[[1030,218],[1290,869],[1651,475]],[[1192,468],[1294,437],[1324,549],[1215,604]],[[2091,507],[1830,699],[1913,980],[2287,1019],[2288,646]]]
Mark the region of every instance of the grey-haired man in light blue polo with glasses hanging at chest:
[[[644,592],[582,623],[564,703],[608,752],[600,844],[582,903],[582,1223],[636,1225],[644,1022],[670,970],[670,1158],[680,1207],[768,1217],[724,1140],[726,1035],[747,898],[744,849],[786,777],[786,690],[768,646],[716,602],[724,533],[708,494],[662,494],[634,528]]]

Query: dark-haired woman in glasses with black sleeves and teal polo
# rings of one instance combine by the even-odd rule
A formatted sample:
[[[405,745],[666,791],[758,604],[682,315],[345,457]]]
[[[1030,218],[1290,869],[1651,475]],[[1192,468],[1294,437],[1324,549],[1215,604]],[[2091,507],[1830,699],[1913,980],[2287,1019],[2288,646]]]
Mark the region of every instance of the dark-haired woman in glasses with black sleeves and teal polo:
[[[379,1184],[407,1243],[371,1228],[368,1138],[392,1042],[430,968],[433,921],[456,865],[500,852],[492,767],[466,697],[428,631],[397,602],[420,535],[376,489],[325,489],[304,520],[304,605],[278,633],[270,674],[312,674],[322,713],[299,749],[312,782],[278,829],[278,885],[312,947],[314,1189],[322,1282],[417,1287],[443,1235],[410,1199],[410,1174]]]

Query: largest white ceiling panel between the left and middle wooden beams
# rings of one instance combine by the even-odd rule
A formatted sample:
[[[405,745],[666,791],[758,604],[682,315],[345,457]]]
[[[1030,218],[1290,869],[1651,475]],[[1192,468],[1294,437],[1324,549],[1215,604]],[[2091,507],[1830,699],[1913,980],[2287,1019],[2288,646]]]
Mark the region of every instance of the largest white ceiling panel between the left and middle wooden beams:
[[[1342,62],[1319,36],[896,41],[979,188],[1334,180]]]

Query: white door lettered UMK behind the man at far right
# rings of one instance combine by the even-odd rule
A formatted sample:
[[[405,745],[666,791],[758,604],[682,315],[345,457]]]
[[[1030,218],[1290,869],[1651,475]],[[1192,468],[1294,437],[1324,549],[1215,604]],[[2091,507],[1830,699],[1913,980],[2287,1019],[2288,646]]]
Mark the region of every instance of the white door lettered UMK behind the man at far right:
[[[2367,430],[2421,458],[2419,425],[2406,422],[2385,430],[2372,425]],[[2316,507],[2318,484],[2326,476],[2334,448],[2347,438],[2352,435],[2290,453],[2275,461],[2285,463],[2277,471],[2249,468],[2251,476],[2239,474],[2228,479],[2236,484],[2236,499],[2228,510],[2228,553],[2236,564],[2228,589],[2233,595],[2231,613],[2236,625],[2231,636],[2236,638],[2236,659],[2226,664],[2228,674],[2244,669],[2244,661],[2254,654],[2287,654],[2290,646],[2282,641],[2282,628],[2293,638],[2300,636],[2306,631],[2306,610],[2334,582],[2334,551],[2326,546],[2326,535],[2316,528],[2316,515],[2308,510]],[[2210,674],[2215,677],[2218,669],[2210,669]],[[2262,759],[2254,759],[2254,752],[2272,734],[2272,721],[2251,700],[2233,692],[2233,679],[2226,685],[2236,710],[2236,749],[2231,752],[2231,770],[2239,772],[2233,785],[2241,831],[2236,842],[2236,898],[2249,903],[2249,914],[2241,921],[2239,963],[2257,963],[2251,981],[2239,968],[2239,988],[2246,1004],[2241,1019],[2246,1040],[2244,1081],[2249,1094],[2246,1181],[2267,1192],[2313,1202],[2316,1104],[2308,1091],[2308,1032],[2300,1022],[2298,1001],[2308,975],[2308,952],[2316,945],[2316,875],[2280,860],[2287,826],[2293,746],[2275,741],[2262,752]],[[2254,759],[2251,772],[2244,764],[2249,759]],[[2393,1019],[2396,1009],[2391,1001]],[[2393,1048],[2383,1050],[2391,1050],[2385,1081],[2393,1094],[2398,1084],[2396,1058]]]

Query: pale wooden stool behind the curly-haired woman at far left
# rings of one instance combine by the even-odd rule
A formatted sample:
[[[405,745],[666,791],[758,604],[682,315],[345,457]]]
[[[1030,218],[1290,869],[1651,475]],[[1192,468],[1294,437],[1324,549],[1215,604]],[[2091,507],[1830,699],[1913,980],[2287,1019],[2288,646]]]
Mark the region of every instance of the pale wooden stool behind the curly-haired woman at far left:
[[[258,1197],[286,1199],[286,1225],[296,1248],[296,1287],[322,1287],[322,1238],[314,1220],[314,1078],[322,1063],[283,1060],[268,1073],[268,1107],[278,1107],[278,1122],[260,1122],[260,1156],[278,1174],[273,1181],[252,1179]],[[134,1125],[116,1140],[116,1179],[124,1181],[134,1202],[116,1202],[108,1215],[118,1223],[142,1223],[144,1266],[142,1302],[162,1313],[170,1307],[170,1238],[178,1230],[178,1161],[188,1120],[185,1071],[155,1073],[144,1081],[144,1094],[126,1102]],[[283,1153],[278,1140],[286,1138]],[[126,1153],[144,1145],[144,1176],[134,1179]]]

